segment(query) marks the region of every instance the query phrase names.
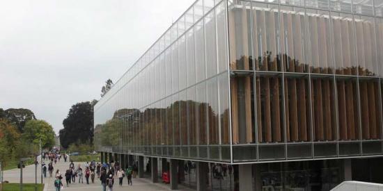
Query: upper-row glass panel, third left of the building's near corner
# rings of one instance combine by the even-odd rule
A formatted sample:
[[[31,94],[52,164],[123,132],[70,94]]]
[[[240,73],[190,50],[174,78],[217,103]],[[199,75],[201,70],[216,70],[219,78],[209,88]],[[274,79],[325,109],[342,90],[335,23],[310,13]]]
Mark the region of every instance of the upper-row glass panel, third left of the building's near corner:
[[[195,51],[196,51],[196,82],[203,81],[205,76],[205,43],[203,35],[203,20],[194,25]]]

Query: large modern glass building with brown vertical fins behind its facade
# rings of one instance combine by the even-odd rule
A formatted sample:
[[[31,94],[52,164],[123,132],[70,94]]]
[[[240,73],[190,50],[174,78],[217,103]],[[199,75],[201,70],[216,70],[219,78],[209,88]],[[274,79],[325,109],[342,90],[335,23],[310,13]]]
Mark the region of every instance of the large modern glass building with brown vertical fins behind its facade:
[[[383,0],[198,0],[97,103],[95,147],[171,188],[383,183],[382,77]]]

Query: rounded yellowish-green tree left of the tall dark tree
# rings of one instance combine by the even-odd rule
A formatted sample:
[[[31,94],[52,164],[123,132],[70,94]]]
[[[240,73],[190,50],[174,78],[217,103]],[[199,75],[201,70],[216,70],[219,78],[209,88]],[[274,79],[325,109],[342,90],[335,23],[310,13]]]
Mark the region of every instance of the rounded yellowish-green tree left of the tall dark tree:
[[[44,120],[30,120],[26,122],[22,136],[26,142],[34,145],[38,145],[41,139],[41,147],[51,149],[54,147],[56,135],[52,126]]]

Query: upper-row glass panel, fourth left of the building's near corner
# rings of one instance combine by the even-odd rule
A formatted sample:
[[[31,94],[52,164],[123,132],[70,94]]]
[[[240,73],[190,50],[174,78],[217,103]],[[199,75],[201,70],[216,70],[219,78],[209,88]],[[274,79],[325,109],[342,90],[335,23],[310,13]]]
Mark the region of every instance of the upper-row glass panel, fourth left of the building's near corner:
[[[196,66],[194,63],[194,29],[186,33],[186,67],[187,67],[187,86],[196,83]]]

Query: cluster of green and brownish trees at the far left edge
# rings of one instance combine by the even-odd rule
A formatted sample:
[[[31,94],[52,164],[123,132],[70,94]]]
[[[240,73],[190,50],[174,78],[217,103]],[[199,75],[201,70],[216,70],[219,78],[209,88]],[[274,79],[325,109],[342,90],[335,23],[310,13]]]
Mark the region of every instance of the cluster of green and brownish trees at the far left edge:
[[[0,161],[6,166],[11,160],[37,156],[41,140],[43,149],[55,144],[52,126],[26,108],[0,108]]]

